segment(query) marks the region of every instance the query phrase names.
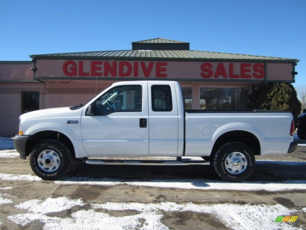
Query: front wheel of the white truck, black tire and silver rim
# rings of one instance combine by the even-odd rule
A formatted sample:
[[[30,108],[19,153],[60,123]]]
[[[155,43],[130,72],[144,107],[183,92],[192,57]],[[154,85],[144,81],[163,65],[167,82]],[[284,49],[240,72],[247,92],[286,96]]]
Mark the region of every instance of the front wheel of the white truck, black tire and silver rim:
[[[58,140],[44,140],[30,155],[32,171],[44,180],[55,180],[65,175],[70,166],[70,151]]]

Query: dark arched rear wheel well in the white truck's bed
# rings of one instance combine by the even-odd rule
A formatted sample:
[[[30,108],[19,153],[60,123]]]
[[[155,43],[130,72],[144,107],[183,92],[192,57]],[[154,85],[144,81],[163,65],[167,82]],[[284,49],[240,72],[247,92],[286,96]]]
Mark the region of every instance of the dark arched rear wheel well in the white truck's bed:
[[[216,140],[214,147],[211,151],[211,156],[213,156],[217,149],[220,148],[223,144],[231,141],[238,141],[243,144],[246,144],[252,149],[254,155],[260,155],[260,143],[254,134],[246,131],[231,131],[222,134]]]

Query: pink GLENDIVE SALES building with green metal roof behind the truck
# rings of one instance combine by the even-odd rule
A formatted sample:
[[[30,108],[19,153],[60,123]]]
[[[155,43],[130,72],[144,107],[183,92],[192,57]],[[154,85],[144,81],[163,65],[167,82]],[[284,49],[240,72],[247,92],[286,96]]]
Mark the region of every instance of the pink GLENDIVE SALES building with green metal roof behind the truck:
[[[245,109],[254,87],[292,83],[299,60],[189,49],[162,38],[131,50],[30,55],[0,61],[0,136],[18,132],[18,117],[36,109],[82,104],[116,81],[180,82],[185,109]]]

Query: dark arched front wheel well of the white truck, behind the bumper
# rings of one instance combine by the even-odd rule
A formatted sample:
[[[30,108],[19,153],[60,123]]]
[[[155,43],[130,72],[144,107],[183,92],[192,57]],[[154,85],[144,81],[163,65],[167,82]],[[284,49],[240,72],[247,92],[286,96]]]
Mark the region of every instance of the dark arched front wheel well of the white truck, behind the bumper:
[[[69,148],[69,151],[72,153],[72,156],[75,157],[75,151],[71,140],[61,132],[56,132],[56,131],[41,131],[31,135],[27,141],[27,144],[25,145],[26,155],[27,156],[30,155],[33,147],[37,143],[48,139],[59,140],[63,142]]]

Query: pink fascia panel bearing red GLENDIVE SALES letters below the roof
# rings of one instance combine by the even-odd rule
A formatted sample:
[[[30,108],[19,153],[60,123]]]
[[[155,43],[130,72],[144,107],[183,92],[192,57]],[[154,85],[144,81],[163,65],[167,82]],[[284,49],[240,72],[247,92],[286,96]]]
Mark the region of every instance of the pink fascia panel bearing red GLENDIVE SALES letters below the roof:
[[[285,65],[287,64],[287,65]],[[126,61],[126,60],[37,60],[38,79],[186,79],[200,81],[292,80],[291,63],[273,63],[273,71],[257,62]]]

